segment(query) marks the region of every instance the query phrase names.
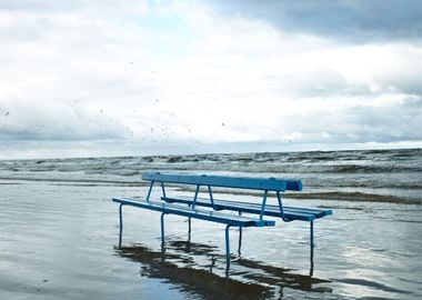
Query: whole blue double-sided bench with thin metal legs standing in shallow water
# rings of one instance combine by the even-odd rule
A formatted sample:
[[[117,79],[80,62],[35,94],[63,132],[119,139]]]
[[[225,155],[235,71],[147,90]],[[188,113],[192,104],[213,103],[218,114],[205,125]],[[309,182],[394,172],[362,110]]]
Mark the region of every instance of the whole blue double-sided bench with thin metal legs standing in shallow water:
[[[331,214],[331,210],[319,210],[297,207],[285,207],[281,200],[281,192],[291,190],[300,191],[302,182],[300,180],[285,179],[264,179],[264,178],[237,178],[221,176],[188,176],[188,174],[161,174],[143,173],[142,179],[150,181],[150,188],[145,200],[113,198],[114,202],[120,203],[120,233],[122,233],[122,207],[132,206],[161,212],[161,239],[164,243],[164,214],[177,214],[189,218],[189,232],[191,229],[191,218],[218,222],[225,224],[225,257],[230,263],[230,227],[268,227],[274,226],[273,220],[267,220],[264,217],[278,217],[285,222],[300,220],[310,222],[311,236],[311,262],[313,260],[313,221],[319,218]],[[161,186],[162,197],[158,201],[150,200],[151,191],[154,183]],[[187,197],[168,197],[164,183],[195,186],[194,196]],[[207,188],[208,199],[199,198],[201,187]],[[261,203],[251,203],[245,201],[217,200],[213,197],[213,188],[231,188],[258,190],[263,192]],[[269,193],[277,196],[278,204],[267,204]],[[200,208],[199,208],[200,207]],[[238,214],[232,213],[233,211]],[[241,216],[248,213],[249,216]],[[257,217],[250,217],[255,214]],[[241,234],[240,234],[241,239]],[[239,243],[240,244],[240,243]]]

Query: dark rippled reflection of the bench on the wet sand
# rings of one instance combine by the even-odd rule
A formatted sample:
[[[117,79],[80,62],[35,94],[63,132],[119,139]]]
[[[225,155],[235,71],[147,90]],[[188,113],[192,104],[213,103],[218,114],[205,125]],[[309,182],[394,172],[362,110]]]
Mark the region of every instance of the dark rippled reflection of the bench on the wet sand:
[[[189,249],[189,250],[187,250]],[[215,264],[213,249],[207,244],[170,241],[167,251],[153,251],[142,246],[115,248],[124,258],[141,263],[141,276],[165,279],[183,293],[197,293],[204,299],[275,299],[283,288],[300,291],[331,292],[330,281],[295,274],[292,270],[267,266],[247,259],[232,262],[230,273]],[[191,256],[205,258],[204,264],[192,262]],[[209,266],[214,266],[211,269]]]

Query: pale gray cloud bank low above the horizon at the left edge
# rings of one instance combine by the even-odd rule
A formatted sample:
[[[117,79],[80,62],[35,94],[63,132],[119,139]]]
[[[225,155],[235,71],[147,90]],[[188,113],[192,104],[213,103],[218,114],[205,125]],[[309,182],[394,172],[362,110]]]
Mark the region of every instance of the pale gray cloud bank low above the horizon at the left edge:
[[[87,113],[74,107],[0,103],[0,140],[124,139],[128,129],[99,110]]]

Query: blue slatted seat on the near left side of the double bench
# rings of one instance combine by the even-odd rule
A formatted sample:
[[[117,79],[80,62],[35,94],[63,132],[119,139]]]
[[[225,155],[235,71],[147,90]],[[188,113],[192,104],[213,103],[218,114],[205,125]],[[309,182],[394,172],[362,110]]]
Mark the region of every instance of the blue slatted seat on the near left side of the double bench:
[[[207,209],[190,208],[187,206],[181,206],[177,203],[168,203],[163,201],[145,201],[139,199],[125,199],[125,198],[113,198],[113,202],[118,202],[124,206],[139,207],[143,209],[161,211],[164,213],[172,213],[194,219],[208,220],[218,223],[224,223],[237,227],[265,227],[274,226],[273,220],[260,220],[255,218],[247,218],[242,216],[237,216],[232,213],[223,213],[221,211],[213,211]]]

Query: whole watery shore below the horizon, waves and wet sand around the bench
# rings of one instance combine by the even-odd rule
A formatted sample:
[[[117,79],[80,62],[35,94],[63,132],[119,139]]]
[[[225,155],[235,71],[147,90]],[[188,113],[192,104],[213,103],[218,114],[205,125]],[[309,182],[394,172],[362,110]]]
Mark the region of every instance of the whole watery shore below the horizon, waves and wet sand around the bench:
[[[0,161],[0,299],[420,299],[422,151],[333,151]],[[284,204],[332,209],[315,221],[232,230],[124,208],[142,172],[298,178]],[[189,190],[170,192],[190,194]],[[155,196],[158,196],[157,193]],[[220,192],[258,201],[260,194]],[[272,199],[271,201],[275,201]]]

